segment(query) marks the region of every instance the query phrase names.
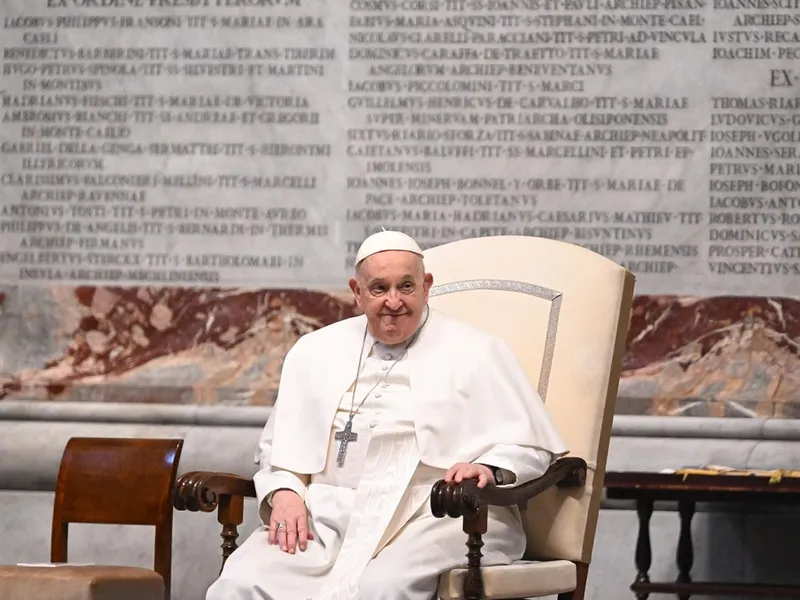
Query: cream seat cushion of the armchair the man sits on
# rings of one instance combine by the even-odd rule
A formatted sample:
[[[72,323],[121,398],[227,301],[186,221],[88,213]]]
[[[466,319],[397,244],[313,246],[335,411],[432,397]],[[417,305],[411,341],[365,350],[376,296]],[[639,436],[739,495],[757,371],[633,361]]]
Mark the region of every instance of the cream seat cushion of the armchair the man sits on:
[[[439,578],[439,598],[462,600],[466,573],[466,569],[444,573]],[[571,592],[577,585],[575,563],[568,560],[520,560],[510,565],[482,567],[481,573],[486,600],[553,596]]]

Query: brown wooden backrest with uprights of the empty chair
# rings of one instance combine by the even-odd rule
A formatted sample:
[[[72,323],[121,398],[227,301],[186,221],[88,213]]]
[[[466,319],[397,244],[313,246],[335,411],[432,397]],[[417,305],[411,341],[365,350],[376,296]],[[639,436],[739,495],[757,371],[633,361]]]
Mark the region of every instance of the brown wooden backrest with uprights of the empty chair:
[[[172,492],[183,440],[71,438],[61,457],[50,560],[67,562],[69,523],[155,526],[154,570],[170,597]]]

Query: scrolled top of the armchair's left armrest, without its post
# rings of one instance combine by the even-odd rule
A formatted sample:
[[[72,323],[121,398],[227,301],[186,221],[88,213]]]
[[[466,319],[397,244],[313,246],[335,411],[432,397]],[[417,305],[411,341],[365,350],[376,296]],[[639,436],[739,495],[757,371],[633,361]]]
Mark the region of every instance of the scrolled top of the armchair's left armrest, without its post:
[[[230,473],[189,471],[175,483],[173,506],[177,510],[212,512],[221,496],[255,498],[256,486],[252,479]]]

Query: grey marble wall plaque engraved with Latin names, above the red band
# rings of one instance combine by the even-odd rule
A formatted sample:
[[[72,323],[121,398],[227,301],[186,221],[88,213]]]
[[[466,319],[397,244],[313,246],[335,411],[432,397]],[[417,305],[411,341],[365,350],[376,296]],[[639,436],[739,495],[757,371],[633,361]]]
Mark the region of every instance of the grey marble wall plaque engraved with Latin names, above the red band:
[[[797,294],[798,7],[6,0],[0,279],[340,288],[385,227]]]

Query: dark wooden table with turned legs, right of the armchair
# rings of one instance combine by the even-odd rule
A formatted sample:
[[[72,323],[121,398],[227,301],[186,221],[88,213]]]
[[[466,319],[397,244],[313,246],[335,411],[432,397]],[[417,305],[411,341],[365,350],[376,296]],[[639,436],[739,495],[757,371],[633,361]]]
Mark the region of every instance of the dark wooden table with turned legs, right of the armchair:
[[[639,600],[650,594],[675,594],[681,600],[692,595],[753,596],[758,598],[800,598],[800,587],[787,585],[744,584],[692,581],[694,562],[692,546],[692,517],[698,502],[771,503],[798,505],[800,478],[784,477],[770,483],[761,475],[680,475],[643,472],[606,473],[606,496],[614,500],[634,500],[639,517],[636,539],[636,579],[631,591]],[[653,503],[678,503],[680,534],[676,562],[678,578],[674,582],[650,581],[648,571],[652,562],[650,547],[650,516]]]

